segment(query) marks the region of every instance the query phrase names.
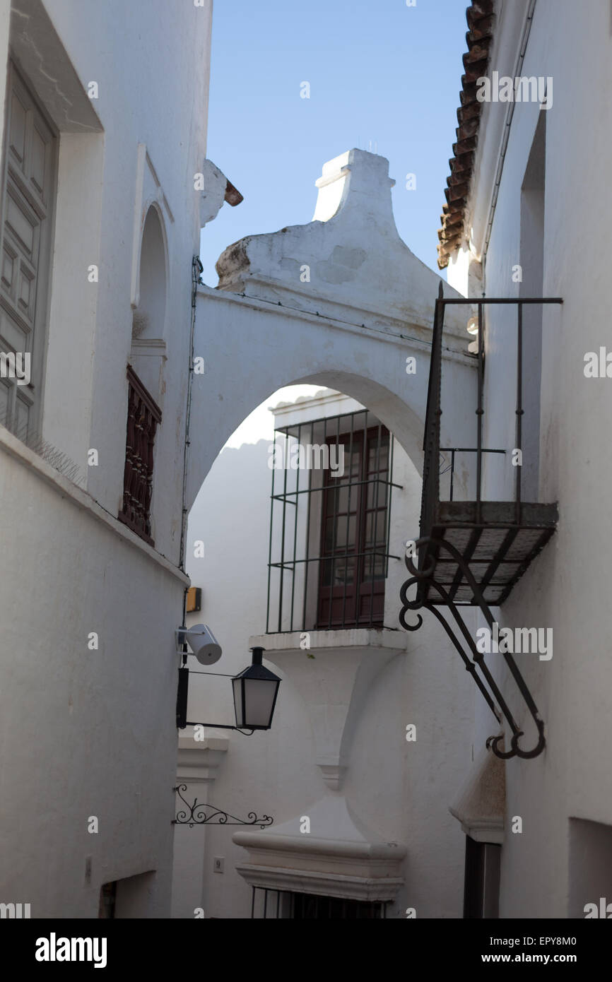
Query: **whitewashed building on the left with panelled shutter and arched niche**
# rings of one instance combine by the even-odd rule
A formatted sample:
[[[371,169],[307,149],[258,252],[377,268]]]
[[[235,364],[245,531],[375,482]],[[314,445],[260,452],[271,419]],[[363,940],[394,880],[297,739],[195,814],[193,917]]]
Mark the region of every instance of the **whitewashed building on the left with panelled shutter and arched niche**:
[[[8,916],[170,910],[211,8],[0,3]]]

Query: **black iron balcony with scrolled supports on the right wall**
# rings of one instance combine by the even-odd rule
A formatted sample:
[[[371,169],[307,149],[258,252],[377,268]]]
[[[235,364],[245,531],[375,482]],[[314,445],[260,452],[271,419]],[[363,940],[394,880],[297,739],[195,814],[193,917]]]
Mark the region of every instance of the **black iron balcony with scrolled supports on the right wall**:
[[[469,627],[461,614],[462,607],[477,607],[484,616],[489,628],[494,620],[490,606],[501,606],[510,596],[521,576],[529,569],[530,563],[544,548],[553,535],[558,519],[556,503],[543,504],[524,500],[523,488],[523,450],[524,450],[524,380],[525,380],[525,331],[526,308],[545,304],[562,303],[561,298],[518,298],[516,300],[482,298],[481,300],[445,299],[442,287],[435,303],[429,384],[425,413],[423,439],[423,481],[420,512],[419,537],[415,540],[415,551],[407,553],[406,565],[411,577],[401,590],[403,608],[400,623],[407,630],[417,630],[417,623],[407,620],[409,611],[420,608],[429,610],[442,624],[450,640],[473,675],[496,719],[505,718],[510,730],[511,748],[502,750],[503,735],[490,737],[490,745],[497,756],[534,757],[544,748],[544,724],[535,702],[519,671],[511,652],[501,652],[510,669],[512,677],[528,706],[529,713],[537,729],[537,742],[529,750],[520,745],[523,731],[517,724],[497,682],[484,662],[483,653],[475,645]],[[448,304],[465,304],[477,307],[477,385],[474,399],[475,447],[441,446],[440,421],[442,416],[442,350],[444,332],[444,312]],[[495,455],[507,455],[508,451],[499,447],[483,446],[484,400],[484,312],[491,308],[515,306],[516,321],[516,403],[514,409],[514,447],[512,463],[514,467],[514,494],[510,500],[483,500],[483,469],[485,461],[493,460]],[[508,311],[507,311],[508,312]],[[507,325],[506,325],[507,326]],[[474,325],[475,327],[475,325]],[[508,345],[508,349],[510,349]],[[460,413],[465,407],[451,408]],[[539,419],[539,404],[533,407]],[[533,423],[531,423],[533,425]],[[456,463],[459,457],[470,460],[472,466],[469,479],[464,481],[466,488],[473,489],[465,500],[456,500]],[[442,462],[442,464],[441,464]],[[475,464],[475,469],[474,469]],[[441,494],[440,478],[449,474],[448,497]],[[501,482],[502,484],[504,482]],[[506,482],[507,486],[507,482]],[[417,560],[415,562],[414,560]],[[408,599],[408,591],[416,587],[416,598]],[[447,618],[440,610],[446,609]],[[455,629],[454,629],[455,628]]]

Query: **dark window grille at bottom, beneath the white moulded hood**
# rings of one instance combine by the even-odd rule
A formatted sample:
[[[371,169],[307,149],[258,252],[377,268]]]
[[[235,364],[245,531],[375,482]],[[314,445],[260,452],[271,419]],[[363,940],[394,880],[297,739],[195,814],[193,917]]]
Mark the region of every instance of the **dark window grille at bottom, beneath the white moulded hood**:
[[[387,916],[387,900],[354,900],[252,887],[253,920],[377,920]]]

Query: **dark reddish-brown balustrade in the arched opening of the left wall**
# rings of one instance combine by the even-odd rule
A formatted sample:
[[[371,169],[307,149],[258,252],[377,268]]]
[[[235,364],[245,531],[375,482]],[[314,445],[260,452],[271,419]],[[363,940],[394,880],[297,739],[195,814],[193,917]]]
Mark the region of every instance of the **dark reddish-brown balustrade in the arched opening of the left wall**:
[[[153,445],[161,422],[161,409],[153,402],[132,365],[128,365],[128,388],[123,503],[118,518],[152,546]]]

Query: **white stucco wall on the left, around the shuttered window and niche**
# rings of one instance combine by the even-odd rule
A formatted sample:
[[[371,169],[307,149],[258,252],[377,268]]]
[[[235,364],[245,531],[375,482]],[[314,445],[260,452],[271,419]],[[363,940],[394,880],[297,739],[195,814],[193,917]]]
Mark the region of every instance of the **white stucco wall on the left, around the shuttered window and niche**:
[[[0,9],[3,66],[8,6]],[[86,491],[2,431],[2,517],[12,531],[0,589],[0,900],[30,903],[32,917],[97,917],[101,884],[155,871],[124,885],[117,915],[166,916],[173,631],[187,583],[177,566],[199,244],[194,174],[205,157],[212,4],[15,7],[13,52],[59,131],[42,432],[80,466]],[[4,84],[4,68],[0,76]],[[98,97],[89,99],[92,81]],[[116,519],[133,281],[152,200],[168,249],[155,550]],[[87,280],[90,264],[97,283]],[[99,464],[87,469],[88,448]],[[87,647],[93,631],[97,650]],[[87,832],[88,816],[98,818],[97,834]]]

